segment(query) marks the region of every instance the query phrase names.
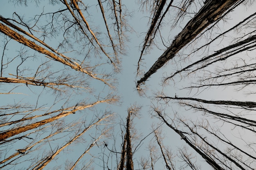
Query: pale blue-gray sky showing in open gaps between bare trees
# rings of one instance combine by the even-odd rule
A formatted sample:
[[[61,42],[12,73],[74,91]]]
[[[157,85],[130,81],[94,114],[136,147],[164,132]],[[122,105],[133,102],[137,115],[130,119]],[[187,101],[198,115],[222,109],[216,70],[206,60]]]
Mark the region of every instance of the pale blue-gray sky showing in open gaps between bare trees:
[[[45,4],[44,4],[45,3]],[[96,3],[96,2],[95,2]],[[130,24],[130,27],[133,29],[130,32],[127,33],[128,38],[129,38],[129,42],[126,42],[126,55],[121,56],[122,59],[122,65],[121,65],[121,72],[116,74],[117,77],[117,81],[118,81],[118,85],[117,85],[117,89],[113,92],[116,93],[117,95],[120,96],[120,103],[116,104],[116,105],[107,105],[107,104],[102,104],[101,106],[97,107],[97,111],[101,112],[101,111],[105,111],[105,110],[112,110],[117,119],[114,122],[114,127],[115,127],[115,132],[120,132],[119,131],[119,120],[120,117],[121,118],[125,118],[127,116],[127,109],[132,105],[132,104],[137,104],[139,106],[142,106],[141,110],[140,110],[140,119],[135,118],[134,120],[134,128],[137,129],[137,133],[139,135],[139,139],[143,139],[146,135],[148,135],[151,131],[152,131],[152,124],[156,125],[159,124],[160,121],[158,119],[156,119],[155,117],[152,117],[151,113],[152,112],[152,108],[151,106],[153,104],[157,104],[157,101],[155,99],[152,99],[153,96],[155,96],[156,93],[158,92],[164,92],[166,95],[170,95],[172,97],[174,97],[175,93],[180,96],[180,97],[197,97],[197,98],[204,98],[204,99],[227,99],[227,100],[238,100],[238,98],[243,98],[245,99],[251,99],[250,96],[246,98],[245,95],[243,95],[243,93],[245,91],[241,91],[241,92],[237,92],[235,88],[210,88],[207,89],[205,91],[202,91],[201,93],[196,93],[195,91],[192,91],[190,93],[189,90],[184,90],[181,89],[183,87],[188,86],[191,82],[193,82],[194,79],[196,79],[195,75],[191,75],[189,78],[187,79],[182,79],[181,81],[179,80],[179,78],[175,78],[175,80],[177,80],[175,83],[171,82],[168,85],[164,85],[162,86],[162,77],[165,75],[169,75],[171,71],[175,71],[176,68],[176,62],[180,62],[182,59],[182,57],[185,57],[186,54],[188,54],[191,51],[191,46],[188,46],[187,49],[184,49],[184,51],[182,51],[183,53],[179,53],[181,56],[180,58],[177,57],[175,58],[173,61],[170,61],[168,64],[166,64],[166,66],[164,66],[164,68],[161,68],[157,71],[157,73],[155,73],[154,75],[152,75],[148,81],[146,81],[146,95],[142,95],[140,96],[136,90],[136,85],[135,82],[137,81],[137,79],[139,79],[139,77],[136,77],[136,70],[137,70],[137,62],[139,59],[139,55],[140,55],[140,47],[142,46],[142,42],[144,40],[144,37],[146,35],[146,31],[148,31],[148,13],[147,12],[141,12],[139,11],[139,6],[136,2],[134,1],[130,1],[130,0],[124,0],[122,2],[123,4],[126,5],[126,8],[128,9],[129,12],[131,12],[132,16],[131,18],[128,18],[128,24]],[[55,6],[57,7],[57,5]],[[28,3],[27,7],[24,6],[20,6],[20,5],[13,5],[11,2],[2,2],[2,5],[0,7],[0,15],[2,15],[4,18],[12,18],[13,17],[13,12],[18,13],[19,15],[24,15],[24,18],[33,18],[35,14],[40,14],[43,10],[46,11],[51,11],[54,10],[55,7],[50,7],[48,2],[40,2],[40,4],[35,5],[32,2]],[[228,15],[228,18],[225,22],[221,22],[220,23],[220,28],[222,28],[222,25],[224,26],[224,28],[229,28],[231,27],[232,24],[236,24],[236,20],[239,18],[244,18],[243,15],[248,15],[249,13],[253,13],[254,12],[254,6],[250,6],[250,7],[238,7],[235,11],[233,11],[231,14]],[[95,26],[99,26],[100,29],[105,29],[105,27],[103,26],[103,20],[101,20],[101,13],[97,9],[96,6],[92,6],[90,7],[90,9],[92,9],[92,11],[94,11],[94,13],[90,13],[90,22],[93,23]],[[195,9],[196,10],[196,9]],[[171,12],[170,12],[171,13]],[[171,14],[170,14],[171,15]],[[180,25],[178,25],[175,29],[170,30],[170,28],[168,27],[168,18],[166,18],[166,24],[164,24],[162,26],[161,29],[161,33],[162,36],[164,38],[164,40],[166,40],[166,45],[171,43],[172,38],[175,37],[175,35],[177,35],[177,33],[179,31],[182,30],[182,26],[184,26],[186,24],[186,22],[189,20],[189,17],[185,17],[184,20],[179,23]],[[100,22],[99,22],[100,21]],[[43,24],[43,23],[42,23]],[[220,30],[218,30],[216,28],[216,33],[220,32]],[[2,36],[2,34],[0,35],[0,40],[3,41],[4,37]],[[231,42],[231,38],[230,38],[230,42]],[[153,49],[151,49],[147,55],[144,55],[143,58],[143,62],[145,62],[144,66],[141,67],[141,69],[144,69],[144,71],[148,71],[148,69],[150,68],[150,66],[157,60],[157,58],[162,55],[162,53],[164,52],[164,50],[166,49],[165,46],[163,46],[163,44],[161,43],[161,39],[157,38],[156,42],[158,42],[159,44],[157,44],[157,47],[153,47]],[[204,38],[202,38],[199,42],[197,42],[198,44],[200,43],[204,43],[205,40]],[[215,44],[214,46],[211,46],[211,49],[209,49],[210,52],[213,52],[216,49],[219,49],[220,47],[223,47],[227,44],[229,44],[230,42],[221,42],[221,44]],[[8,55],[17,55],[17,51],[19,50],[19,48],[16,48],[16,46],[18,46],[17,42],[13,42],[13,40],[11,40],[9,42],[11,45],[9,46],[9,51],[8,51]],[[52,39],[52,40],[48,40],[48,42],[50,45],[55,45],[58,44],[58,38]],[[197,45],[195,43],[195,45]],[[13,49],[10,49],[10,47],[13,46]],[[1,46],[2,47],[2,46]],[[2,48],[1,48],[2,50]],[[33,51],[30,50],[30,53],[33,54]],[[200,51],[200,53],[202,53],[202,55],[206,55],[207,52],[205,51]],[[74,55],[74,53],[70,53],[72,55]],[[67,54],[69,55],[69,54]],[[192,56],[191,58],[187,58],[186,60],[182,60],[184,61],[184,63],[189,63],[191,61],[194,61],[193,57],[201,57],[201,56]],[[44,60],[44,59],[37,59],[38,61],[40,60]],[[196,60],[196,59],[195,59]],[[30,65],[31,67],[34,66],[34,62],[36,63],[36,60],[30,60],[29,62],[31,62],[31,64],[27,63],[28,66]],[[228,65],[228,64],[227,64]],[[182,65],[178,65],[178,67],[180,67]],[[56,67],[58,67],[58,65],[56,64]],[[56,68],[58,69],[58,68]],[[15,71],[15,70],[14,70]],[[14,73],[13,73],[14,74]],[[95,95],[102,95],[104,96],[104,94],[106,95],[108,93],[108,87],[105,85],[102,85],[101,82],[97,82],[95,80],[93,80],[92,82],[92,86],[95,88],[95,92],[93,92],[92,94],[89,94],[84,96],[84,94],[76,94],[74,93],[71,96],[71,100],[69,101],[70,104],[72,103],[76,103],[79,102],[81,100],[84,99],[88,99],[94,101],[95,99],[97,99],[97,97],[95,97]],[[0,85],[0,90],[4,91],[7,89],[11,89],[9,86],[7,87],[6,85]],[[2,95],[0,98],[0,103],[1,105],[8,105],[10,103],[13,102],[20,102],[23,103],[29,103],[31,105],[35,105],[36,104],[36,100],[38,98],[38,95],[42,92],[41,88],[37,88],[37,87],[27,87],[26,85],[20,86],[19,89],[14,90],[14,92],[16,93],[20,93],[20,91],[22,91],[23,94],[13,94],[13,95]],[[107,92],[106,92],[107,91]],[[111,90],[110,90],[111,91]],[[51,106],[51,104],[54,102],[55,99],[55,95],[52,92],[47,93],[46,91],[43,91],[42,95],[40,96],[40,100],[38,103],[42,103],[45,104],[44,107],[49,107]],[[68,95],[63,95],[64,97],[61,98],[60,97],[60,102],[59,104],[56,104],[56,106],[54,107],[61,107],[63,105],[63,103],[65,103],[65,101],[67,100]],[[160,102],[161,103],[161,102]],[[83,119],[85,118],[84,115],[85,114],[92,114],[93,112],[95,112],[95,110],[93,111],[82,111],[81,113],[78,113],[76,115],[76,117],[74,117],[74,121],[77,121],[78,119]],[[170,117],[173,116],[173,113],[177,113],[177,115],[179,115],[180,117],[191,117],[191,119],[193,118],[198,118],[199,120],[202,118],[200,113],[195,114],[192,113],[192,111],[186,111],[186,109],[184,109],[182,106],[179,106],[178,104],[173,104],[171,106],[166,106],[166,113],[170,114]],[[88,119],[88,118],[87,118]],[[89,115],[89,119],[90,119],[90,115]],[[71,121],[72,119],[70,119]],[[211,121],[211,120],[209,120]],[[213,121],[214,122],[214,121]],[[215,122],[214,122],[215,123]],[[171,146],[172,150],[174,152],[176,152],[177,148],[179,146],[184,145],[184,142],[180,140],[180,137],[175,134],[174,132],[172,132],[171,130],[169,130],[168,128],[164,127],[164,134],[166,139],[164,140],[164,143],[166,145]],[[227,134],[229,134],[230,132],[230,128],[224,128],[224,130],[227,130]],[[235,132],[235,131],[234,131]],[[235,134],[236,135],[236,134]],[[117,137],[117,143],[121,143],[121,137],[120,134],[116,135]],[[63,144],[65,143],[65,141],[67,141],[69,138],[65,138],[63,137]],[[148,142],[150,142],[153,139],[153,135],[150,135],[146,140],[144,140],[141,143],[141,147],[137,150],[137,152],[135,153],[135,160],[139,161],[139,157],[140,156],[146,156],[148,155],[148,150],[147,150],[147,146],[148,146]],[[88,139],[89,140],[89,139]],[[105,139],[104,139],[105,140]],[[59,140],[60,141],[60,140]],[[108,142],[109,146],[112,145],[112,141],[111,139],[106,139],[106,141]],[[14,148],[19,148],[19,147],[23,147],[26,146],[27,143],[26,141],[22,141],[23,143],[21,143],[21,146],[14,146]],[[54,141],[53,145],[54,145]],[[138,141],[134,141],[134,145],[136,146],[138,144]],[[238,141],[239,144],[239,141]],[[57,146],[58,144],[55,144],[55,146]],[[60,154],[59,156],[57,156],[56,161],[53,161],[52,164],[50,164],[50,166],[55,166],[54,164],[61,164],[63,162],[66,161],[66,159],[70,159],[72,160],[72,157],[77,157],[77,155],[80,155],[81,152],[83,152],[84,150],[80,148],[81,146],[72,146],[72,148],[68,148],[68,150],[65,150],[65,152],[63,152],[62,154]],[[96,146],[97,147],[97,146]],[[116,146],[117,149],[119,149],[120,152],[120,146],[117,145]],[[56,149],[56,148],[55,148]],[[80,153],[79,153],[80,152]],[[92,155],[97,155],[99,154],[99,148],[92,148],[91,150]],[[0,157],[3,158],[3,157]],[[21,158],[22,159],[22,158]],[[88,161],[90,160],[90,158],[88,157],[87,159]],[[178,160],[178,159],[177,159]],[[73,159],[74,161],[74,159]],[[98,164],[100,160],[96,159],[95,163]],[[197,161],[198,164],[202,163],[202,167],[205,166],[204,161],[200,158],[197,157]],[[160,161],[161,162],[161,161]],[[179,163],[178,161],[176,162],[177,164]],[[136,163],[135,163],[136,164]],[[137,164],[136,164],[137,165]],[[23,165],[22,165],[23,166]],[[50,168],[49,166],[49,168]],[[207,168],[209,168],[207,166]],[[16,169],[19,169],[18,166],[16,166]],[[97,166],[95,166],[95,169],[97,169]]]

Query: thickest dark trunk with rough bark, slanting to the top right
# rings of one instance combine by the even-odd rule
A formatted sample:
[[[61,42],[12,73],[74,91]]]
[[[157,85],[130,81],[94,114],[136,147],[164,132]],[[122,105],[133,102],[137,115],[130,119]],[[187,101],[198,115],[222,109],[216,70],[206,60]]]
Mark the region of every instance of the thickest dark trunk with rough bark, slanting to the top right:
[[[145,82],[152,74],[161,68],[166,62],[171,60],[186,44],[191,42],[207,26],[215,22],[227,9],[229,9],[238,0],[209,0],[198,11],[184,27],[184,29],[175,37],[171,46],[158,58],[153,66],[137,81],[137,88]]]

